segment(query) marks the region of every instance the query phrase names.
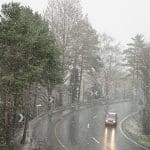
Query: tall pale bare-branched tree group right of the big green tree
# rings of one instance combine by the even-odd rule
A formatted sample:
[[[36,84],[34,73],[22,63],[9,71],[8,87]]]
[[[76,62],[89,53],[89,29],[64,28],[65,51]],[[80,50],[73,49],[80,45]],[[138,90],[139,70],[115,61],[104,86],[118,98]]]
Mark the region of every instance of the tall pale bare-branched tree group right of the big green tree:
[[[93,70],[99,73],[103,65],[99,55],[99,35],[83,14],[79,0],[49,0],[44,16],[62,50],[68,101],[79,102],[84,93],[81,85],[85,73],[90,76]]]

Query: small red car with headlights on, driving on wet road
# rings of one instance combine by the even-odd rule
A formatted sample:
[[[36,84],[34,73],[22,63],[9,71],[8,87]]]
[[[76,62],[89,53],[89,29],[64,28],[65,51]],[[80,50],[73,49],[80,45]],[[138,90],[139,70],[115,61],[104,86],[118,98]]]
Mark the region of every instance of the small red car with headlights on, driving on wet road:
[[[117,113],[108,112],[105,116],[105,126],[117,126]]]

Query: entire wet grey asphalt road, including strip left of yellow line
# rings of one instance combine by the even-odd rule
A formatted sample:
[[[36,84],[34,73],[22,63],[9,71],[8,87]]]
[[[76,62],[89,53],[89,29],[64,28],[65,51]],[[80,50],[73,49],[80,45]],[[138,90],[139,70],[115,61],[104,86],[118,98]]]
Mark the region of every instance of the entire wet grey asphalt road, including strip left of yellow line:
[[[47,116],[42,118],[34,128],[34,139],[41,150],[143,150],[128,141],[119,129],[119,122],[135,112],[136,105],[123,102],[109,106],[109,110],[118,114],[116,128],[105,128],[104,106],[97,105],[72,111],[64,118],[58,113],[52,118],[53,123]]]

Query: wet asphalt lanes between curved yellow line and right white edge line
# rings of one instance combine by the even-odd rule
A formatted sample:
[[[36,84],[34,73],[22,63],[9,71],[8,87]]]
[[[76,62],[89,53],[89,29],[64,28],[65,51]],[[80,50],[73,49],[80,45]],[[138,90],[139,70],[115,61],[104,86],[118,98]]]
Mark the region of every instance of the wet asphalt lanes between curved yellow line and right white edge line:
[[[136,105],[125,102],[113,104],[110,111],[117,112],[118,122],[136,111]],[[104,106],[74,112],[57,125],[57,137],[66,150],[143,150],[128,141],[119,129],[105,128]]]

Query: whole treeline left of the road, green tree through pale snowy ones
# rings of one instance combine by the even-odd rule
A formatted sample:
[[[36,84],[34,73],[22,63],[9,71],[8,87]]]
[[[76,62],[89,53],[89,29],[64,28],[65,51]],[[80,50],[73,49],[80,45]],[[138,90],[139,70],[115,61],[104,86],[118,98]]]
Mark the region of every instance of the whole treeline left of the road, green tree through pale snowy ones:
[[[47,110],[53,92],[59,95],[56,107],[100,97],[125,99],[129,90],[121,62],[120,45],[97,33],[79,0],[49,0],[44,16],[19,3],[2,5],[0,143],[11,149],[18,112],[25,116],[25,142],[39,87],[46,89]]]

